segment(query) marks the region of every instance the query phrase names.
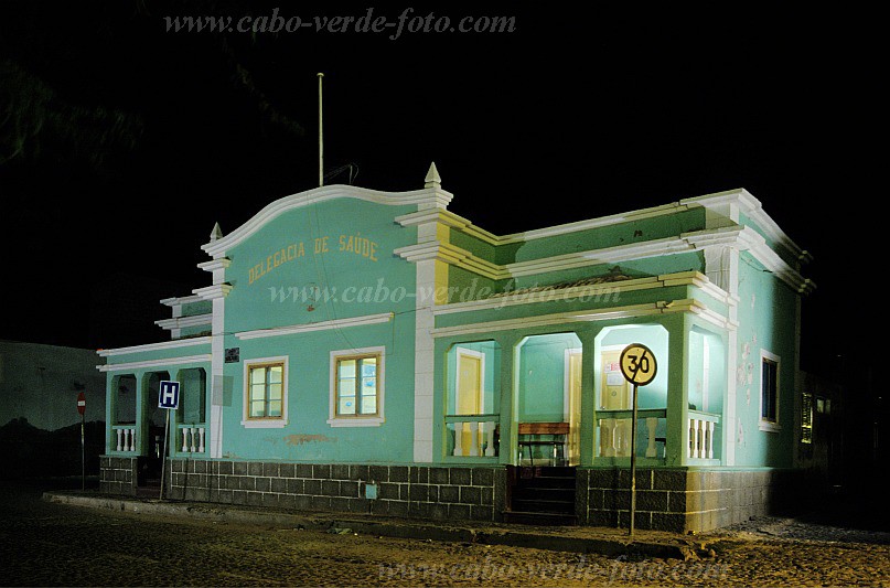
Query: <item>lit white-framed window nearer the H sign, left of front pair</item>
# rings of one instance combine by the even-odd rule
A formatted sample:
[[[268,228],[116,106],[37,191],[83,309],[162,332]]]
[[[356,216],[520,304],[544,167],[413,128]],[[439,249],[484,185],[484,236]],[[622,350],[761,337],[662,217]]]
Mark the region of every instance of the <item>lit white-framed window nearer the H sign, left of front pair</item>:
[[[244,420],[248,428],[287,425],[287,357],[246,361]]]

